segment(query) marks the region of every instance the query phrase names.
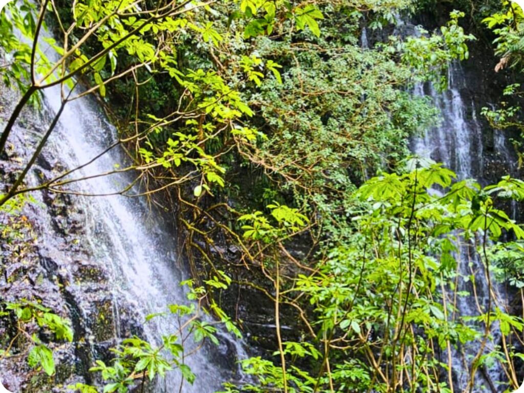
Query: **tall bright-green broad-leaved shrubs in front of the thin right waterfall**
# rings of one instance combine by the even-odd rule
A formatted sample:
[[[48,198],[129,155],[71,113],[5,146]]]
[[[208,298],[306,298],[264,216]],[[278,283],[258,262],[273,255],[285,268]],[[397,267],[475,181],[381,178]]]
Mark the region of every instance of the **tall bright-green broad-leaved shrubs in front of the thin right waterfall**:
[[[309,323],[315,332],[311,340],[282,343],[287,385],[280,366],[252,358],[243,366],[259,382],[242,389],[358,391],[373,384],[377,391],[388,391],[391,378],[398,381],[408,373],[409,385],[400,391],[436,385],[445,391],[451,379],[438,376],[452,364],[443,361],[440,351],[493,341],[492,329],[504,336],[521,332],[521,317],[485,304],[477,315],[460,316],[456,299],[464,296],[461,282],[470,280],[461,267],[464,261],[457,257],[462,244],[476,239],[478,254],[472,258],[485,269],[498,269],[497,275],[507,273],[503,268],[514,264],[517,255],[522,259],[518,253],[524,231],[495,207],[494,200],[522,199],[524,182],[505,177],[481,188],[472,180],[455,179],[449,169],[414,158],[403,170],[379,173],[365,182],[352,195],[345,236],[334,246],[328,243],[328,254],[314,271],[298,274],[285,284],[281,302],[301,299],[295,304],[305,310],[307,300],[314,308]],[[241,218],[270,226],[260,212]],[[253,227],[245,228],[248,237],[266,242]],[[274,231],[271,227],[268,231]],[[519,241],[498,243],[503,233]],[[520,281],[514,283],[520,285]],[[325,347],[329,352],[322,351]],[[510,351],[507,356],[511,357]],[[504,351],[481,351],[474,367],[493,362],[504,365],[507,356]],[[309,367],[303,368],[304,359]],[[326,359],[330,369],[313,366],[326,364]],[[316,374],[311,374],[313,370]]]

